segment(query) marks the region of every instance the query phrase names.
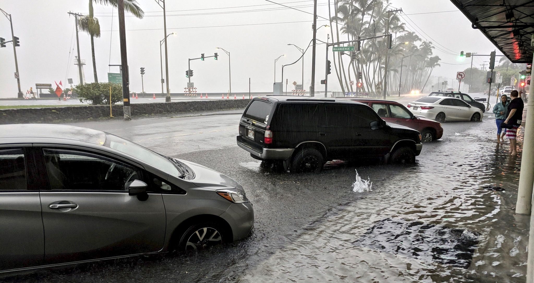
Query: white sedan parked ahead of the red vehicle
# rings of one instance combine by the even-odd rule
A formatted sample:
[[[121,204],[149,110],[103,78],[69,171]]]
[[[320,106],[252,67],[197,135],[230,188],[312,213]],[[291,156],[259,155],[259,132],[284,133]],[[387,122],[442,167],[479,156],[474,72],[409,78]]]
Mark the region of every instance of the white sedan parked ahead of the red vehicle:
[[[482,110],[453,97],[427,96],[410,102],[408,109],[415,116],[445,121],[482,121]]]

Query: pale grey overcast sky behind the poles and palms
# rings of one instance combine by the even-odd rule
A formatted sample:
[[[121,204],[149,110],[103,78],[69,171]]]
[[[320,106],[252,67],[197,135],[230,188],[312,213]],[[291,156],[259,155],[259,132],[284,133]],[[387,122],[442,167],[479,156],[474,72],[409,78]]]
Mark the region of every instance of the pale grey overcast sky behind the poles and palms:
[[[126,40],[128,64],[130,66],[130,90],[141,91],[139,67],[145,67],[144,87],[147,93],[161,93],[159,43],[164,37],[162,10],[154,0],[138,0],[145,11],[145,18],[137,19],[126,14]],[[311,5],[313,1],[276,0],[286,5]],[[288,3],[289,2],[289,3]],[[333,3],[333,1],[331,1]],[[327,0],[318,0],[318,15],[328,18]],[[323,5],[321,5],[323,4]],[[488,39],[476,29],[449,0],[391,0],[391,6],[402,8],[406,28],[421,38],[427,39],[448,53],[434,50],[442,58],[441,67],[433,75],[452,79],[457,71],[469,67],[470,60],[458,61],[460,51],[489,54],[495,49]],[[233,7],[231,9],[227,9]],[[281,64],[294,62],[300,51],[288,43],[306,48],[312,38],[310,14],[292,9],[272,10],[281,7],[265,0],[203,0],[167,1],[169,83],[171,92],[183,92],[186,87],[187,58],[200,57],[200,53],[212,56],[218,52],[219,59],[207,58],[204,62],[194,60],[192,82],[199,93],[227,91],[228,56],[221,47],[231,52],[232,91],[248,91],[248,79],[252,91],[272,91],[274,81],[274,59],[280,55],[276,65],[277,81],[281,80]],[[20,82],[23,92],[35,83],[52,83],[73,78],[78,83],[78,71],[74,65],[76,37],[74,17],[69,11],[88,13],[87,0],[0,0],[0,8],[12,14],[15,36],[20,37],[17,47]],[[283,8],[283,7],[281,7]],[[232,11],[271,9],[255,12]],[[299,7],[313,12],[313,7]],[[445,12],[446,11],[446,12]],[[441,13],[429,13],[441,12]],[[207,14],[208,13],[208,14]],[[422,14],[421,14],[422,13]],[[120,64],[119,32],[116,9],[95,4],[95,17],[100,20],[101,37],[95,39],[96,65],[99,81],[107,81],[107,73],[118,73]],[[319,25],[327,21],[318,21]],[[317,38],[326,41],[329,28],[318,30]],[[0,15],[0,37],[11,40],[9,21]],[[85,79],[93,81],[90,37],[80,32],[80,54],[85,60]],[[111,43],[111,44],[110,44]],[[317,47],[316,89],[324,77],[325,46]],[[450,54],[453,53],[453,54]],[[497,51],[497,54],[500,54]],[[163,51],[164,56],[164,51]],[[483,57],[474,57],[473,65],[480,67]],[[445,64],[449,63],[449,64]],[[450,65],[462,64],[462,65]],[[487,63],[486,63],[487,64]],[[284,69],[285,79],[291,83],[301,81],[302,64],[297,63]],[[11,43],[0,49],[0,97],[15,97],[17,80]],[[311,74],[311,47],[305,55],[304,88],[309,89]],[[335,76],[335,74],[332,74]],[[163,66],[164,77],[164,66]],[[443,79],[442,79],[443,80]],[[329,90],[340,90],[329,84]]]

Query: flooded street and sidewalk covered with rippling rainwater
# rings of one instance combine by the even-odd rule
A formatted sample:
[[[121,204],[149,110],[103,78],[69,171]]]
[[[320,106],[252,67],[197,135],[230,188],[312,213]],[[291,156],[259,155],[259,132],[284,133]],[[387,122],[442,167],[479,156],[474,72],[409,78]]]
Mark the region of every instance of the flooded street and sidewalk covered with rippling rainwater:
[[[235,112],[235,111],[234,111]],[[443,124],[415,165],[263,169],[235,145],[240,114],[76,123],[237,180],[254,203],[242,241],[186,255],[46,269],[6,282],[524,282],[528,217],[515,216],[521,154],[495,124]],[[518,134],[521,152],[523,132]],[[362,178],[358,179],[356,170]],[[372,188],[353,191],[372,182]],[[502,190],[504,189],[504,190]]]

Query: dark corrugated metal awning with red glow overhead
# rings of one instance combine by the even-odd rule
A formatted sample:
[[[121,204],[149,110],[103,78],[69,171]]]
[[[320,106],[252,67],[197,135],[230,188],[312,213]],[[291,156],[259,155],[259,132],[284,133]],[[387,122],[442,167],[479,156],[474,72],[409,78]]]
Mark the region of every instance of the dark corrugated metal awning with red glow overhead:
[[[513,63],[532,63],[534,0],[451,0]]]

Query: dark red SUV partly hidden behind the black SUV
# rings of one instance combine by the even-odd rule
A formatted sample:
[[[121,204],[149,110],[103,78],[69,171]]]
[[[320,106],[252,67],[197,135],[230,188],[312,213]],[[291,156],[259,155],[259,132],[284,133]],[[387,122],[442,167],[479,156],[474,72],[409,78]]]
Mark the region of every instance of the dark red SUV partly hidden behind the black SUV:
[[[345,98],[369,105],[378,116],[382,117],[386,122],[406,126],[419,131],[423,142],[439,140],[443,136],[443,128],[440,123],[427,118],[414,116],[410,110],[398,102],[362,97],[337,98]]]

